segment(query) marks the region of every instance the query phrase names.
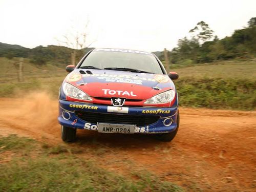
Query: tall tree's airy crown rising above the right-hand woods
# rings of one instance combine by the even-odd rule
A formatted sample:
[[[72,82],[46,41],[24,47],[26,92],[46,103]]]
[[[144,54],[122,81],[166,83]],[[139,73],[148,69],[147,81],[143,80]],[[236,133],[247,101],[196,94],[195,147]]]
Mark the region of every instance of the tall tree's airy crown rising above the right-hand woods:
[[[197,23],[196,27],[189,30],[189,33],[191,33],[192,39],[197,40],[200,45],[214,36],[214,31],[212,31],[204,21]]]

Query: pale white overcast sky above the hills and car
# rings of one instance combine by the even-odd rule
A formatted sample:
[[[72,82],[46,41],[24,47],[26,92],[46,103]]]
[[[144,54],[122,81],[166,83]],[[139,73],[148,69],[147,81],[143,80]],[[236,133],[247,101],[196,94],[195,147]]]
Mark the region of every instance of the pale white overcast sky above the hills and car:
[[[0,42],[28,48],[58,45],[90,21],[91,47],[171,50],[204,20],[220,38],[256,17],[255,0],[27,1],[0,0]]]

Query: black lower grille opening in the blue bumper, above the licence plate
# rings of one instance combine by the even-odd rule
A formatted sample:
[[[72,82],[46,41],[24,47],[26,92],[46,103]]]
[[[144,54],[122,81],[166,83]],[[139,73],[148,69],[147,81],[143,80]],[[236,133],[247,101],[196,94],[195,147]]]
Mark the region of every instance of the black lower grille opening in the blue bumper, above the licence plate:
[[[93,112],[75,111],[77,117],[90,123],[120,123],[120,124],[136,124],[137,126],[150,125],[155,123],[160,118],[159,116],[148,115],[120,115],[120,114],[105,114]]]

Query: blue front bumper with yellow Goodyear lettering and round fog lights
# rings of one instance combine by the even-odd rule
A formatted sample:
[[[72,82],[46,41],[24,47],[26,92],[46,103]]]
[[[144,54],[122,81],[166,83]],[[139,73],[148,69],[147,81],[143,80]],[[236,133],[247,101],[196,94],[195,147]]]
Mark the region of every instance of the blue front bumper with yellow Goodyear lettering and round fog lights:
[[[91,123],[79,118],[76,111],[94,112],[101,114],[125,114],[125,115],[151,115],[158,116],[159,119],[148,125],[135,126],[135,133],[168,133],[173,132],[177,128],[177,107],[158,108],[158,107],[137,107],[137,106],[109,106],[83,102],[72,102],[59,100],[59,117],[58,121],[63,126],[72,127],[74,129],[86,129],[97,131],[97,123]],[[104,123],[104,122],[102,122]],[[130,124],[133,124],[132,122]]]

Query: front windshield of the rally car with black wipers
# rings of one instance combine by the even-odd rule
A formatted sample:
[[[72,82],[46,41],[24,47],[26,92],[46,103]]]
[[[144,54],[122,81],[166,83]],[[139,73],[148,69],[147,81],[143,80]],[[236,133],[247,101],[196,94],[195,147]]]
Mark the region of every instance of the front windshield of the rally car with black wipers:
[[[152,53],[125,49],[95,49],[83,60],[80,68],[163,74]]]

